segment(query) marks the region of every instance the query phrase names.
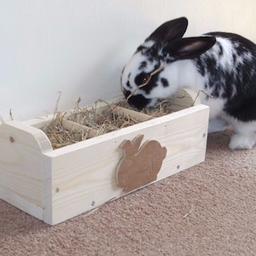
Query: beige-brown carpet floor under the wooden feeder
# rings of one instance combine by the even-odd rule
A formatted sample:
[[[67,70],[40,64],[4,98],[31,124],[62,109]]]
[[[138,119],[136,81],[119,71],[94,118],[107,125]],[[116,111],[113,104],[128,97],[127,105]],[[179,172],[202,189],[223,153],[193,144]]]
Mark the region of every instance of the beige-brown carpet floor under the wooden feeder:
[[[256,147],[208,137],[207,160],[50,227],[0,201],[0,255],[256,255]]]

